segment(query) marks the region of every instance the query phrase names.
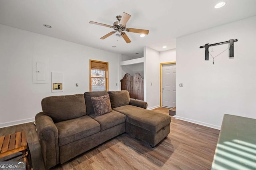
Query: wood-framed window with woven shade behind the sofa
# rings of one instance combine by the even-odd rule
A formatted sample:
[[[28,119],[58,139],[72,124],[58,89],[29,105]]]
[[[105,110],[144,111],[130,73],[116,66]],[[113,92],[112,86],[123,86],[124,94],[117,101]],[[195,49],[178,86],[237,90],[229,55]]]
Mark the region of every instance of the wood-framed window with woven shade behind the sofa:
[[[90,60],[90,91],[108,90],[108,63]]]

